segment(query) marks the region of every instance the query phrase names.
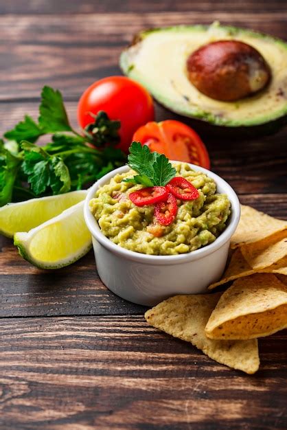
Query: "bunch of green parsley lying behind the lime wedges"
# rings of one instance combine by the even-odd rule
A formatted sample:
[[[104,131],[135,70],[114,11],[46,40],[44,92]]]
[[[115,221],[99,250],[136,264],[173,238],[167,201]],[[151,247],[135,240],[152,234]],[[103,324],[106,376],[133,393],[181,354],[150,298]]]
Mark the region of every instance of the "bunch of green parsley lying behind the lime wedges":
[[[115,148],[119,121],[100,111],[81,133],[69,122],[60,91],[44,87],[38,122],[25,115],[0,139],[0,206],[80,190],[126,161]],[[45,146],[39,137],[51,135]]]

